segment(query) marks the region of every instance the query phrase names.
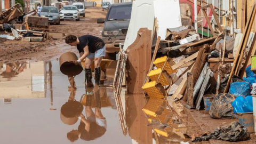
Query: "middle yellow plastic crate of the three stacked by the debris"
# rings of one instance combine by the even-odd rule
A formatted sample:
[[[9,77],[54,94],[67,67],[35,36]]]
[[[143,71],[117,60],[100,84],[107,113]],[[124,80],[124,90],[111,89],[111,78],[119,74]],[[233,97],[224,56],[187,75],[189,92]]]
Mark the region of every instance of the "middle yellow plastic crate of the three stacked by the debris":
[[[161,68],[150,70],[148,77],[151,79],[151,81],[157,81],[161,71]],[[172,83],[172,78],[164,70],[161,74],[161,77],[159,78],[158,83],[161,83],[163,86],[170,85]]]

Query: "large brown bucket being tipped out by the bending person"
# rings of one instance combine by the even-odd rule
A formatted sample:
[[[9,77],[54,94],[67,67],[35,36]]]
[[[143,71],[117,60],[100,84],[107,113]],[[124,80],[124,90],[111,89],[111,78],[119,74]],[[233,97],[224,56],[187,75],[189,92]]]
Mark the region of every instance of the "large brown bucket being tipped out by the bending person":
[[[60,71],[64,75],[76,76],[83,71],[81,65],[75,65],[73,61],[78,60],[74,52],[66,52],[60,55]]]

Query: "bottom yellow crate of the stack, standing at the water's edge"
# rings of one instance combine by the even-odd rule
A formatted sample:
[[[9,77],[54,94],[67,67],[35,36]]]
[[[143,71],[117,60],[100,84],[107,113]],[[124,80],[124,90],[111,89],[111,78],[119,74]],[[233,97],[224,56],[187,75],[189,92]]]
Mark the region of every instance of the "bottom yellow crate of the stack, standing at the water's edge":
[[[156,81],[145,83],[142,89],[148,94],[149,98],[165,98],[167,93],[161,84],[156,85]]]

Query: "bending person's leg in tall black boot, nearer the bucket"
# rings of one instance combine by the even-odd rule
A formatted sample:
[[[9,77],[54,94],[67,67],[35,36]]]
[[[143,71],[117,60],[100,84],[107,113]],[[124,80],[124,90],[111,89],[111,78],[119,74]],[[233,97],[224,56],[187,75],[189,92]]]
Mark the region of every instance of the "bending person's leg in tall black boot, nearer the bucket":
[[[85,67],[85,79],[87,82],[86,87],[92,87],[93,83],[92,83],[92,70],[91,70],[91,64],[92,64],[93,58],[89,59],[89,58],[85,58],[85,62],[84,62],[84,67]],[[84,80],[85,82],[85,80]]]

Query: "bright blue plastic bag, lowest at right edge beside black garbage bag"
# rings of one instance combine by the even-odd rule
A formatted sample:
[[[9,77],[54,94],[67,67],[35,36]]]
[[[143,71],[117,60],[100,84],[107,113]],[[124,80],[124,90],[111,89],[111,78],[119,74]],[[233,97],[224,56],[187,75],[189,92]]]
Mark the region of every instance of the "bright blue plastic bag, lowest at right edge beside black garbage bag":
[[[234,113],[250,113],[253,112],[252,96],[246,98],[237,97],[231,105],[234,107]]]

